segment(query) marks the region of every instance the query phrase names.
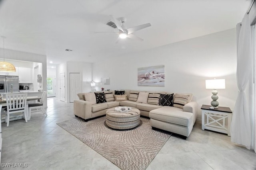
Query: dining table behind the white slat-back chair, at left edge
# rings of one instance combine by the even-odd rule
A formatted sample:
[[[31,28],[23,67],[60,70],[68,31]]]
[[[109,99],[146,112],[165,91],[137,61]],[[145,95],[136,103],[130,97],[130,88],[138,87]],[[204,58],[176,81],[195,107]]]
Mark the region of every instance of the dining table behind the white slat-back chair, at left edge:
[[[30,118],[29,118],[29,114],[28,114],[28,101],[33,101],[33,100],[40,100],[41,99],[41,97],[38,97],[38,96],[29,96],[29,97],[27,97],[27,102],[26,102],[26,115],[27,115],[27,120],[30,120]],[[6,104],[6,99],[2,99],[2,100],[0,100],[0,105],[2,105],[2,109],[4,109],[4,107],[6,107],[7,106],[7,104]],[[12,121],[12,120],[18,120],[18,119],[23,119],[24,117],[23,117],[23,114],[21,114],[21,115],[17,115],[16,117],[13,117],[13,118],[10,118],[10,121]],[[2,119],[1,119],[1,122],[5,122],[5,117],[2,117]]]

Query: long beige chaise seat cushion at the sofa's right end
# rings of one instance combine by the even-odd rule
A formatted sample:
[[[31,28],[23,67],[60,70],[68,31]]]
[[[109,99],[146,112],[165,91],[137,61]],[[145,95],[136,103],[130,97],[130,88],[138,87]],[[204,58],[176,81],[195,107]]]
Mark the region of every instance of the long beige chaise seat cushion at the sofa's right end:
[[[149,112],[151,119],[166,121],[188,127],[193,121],[193,113],[182,111],[177,107],[163,106]]]

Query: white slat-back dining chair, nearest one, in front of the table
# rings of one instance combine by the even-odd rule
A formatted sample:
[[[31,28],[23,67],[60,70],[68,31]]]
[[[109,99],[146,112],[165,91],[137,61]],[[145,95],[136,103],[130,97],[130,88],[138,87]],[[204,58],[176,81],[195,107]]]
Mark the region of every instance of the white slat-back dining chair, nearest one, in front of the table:
[[[5,113],[5,123],[7,123],[7,127],[10,122],[10,115],[17,117],[18,115],[14,115],[14,113],[23,112],[23,118],[27,121],[26,115],[26,102],[27,102],[27,93],[23,94],[6,94],[6,113]]]

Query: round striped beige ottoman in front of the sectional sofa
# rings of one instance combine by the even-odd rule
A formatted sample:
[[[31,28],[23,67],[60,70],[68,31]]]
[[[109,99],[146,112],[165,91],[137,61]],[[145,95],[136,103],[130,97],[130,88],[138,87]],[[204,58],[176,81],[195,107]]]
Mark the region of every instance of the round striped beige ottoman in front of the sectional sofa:
[[[110,108],[106,111],[106,124],[113,129],[132,129],[140,124],[140,110],[130,107],[129,111],[120,112]]]

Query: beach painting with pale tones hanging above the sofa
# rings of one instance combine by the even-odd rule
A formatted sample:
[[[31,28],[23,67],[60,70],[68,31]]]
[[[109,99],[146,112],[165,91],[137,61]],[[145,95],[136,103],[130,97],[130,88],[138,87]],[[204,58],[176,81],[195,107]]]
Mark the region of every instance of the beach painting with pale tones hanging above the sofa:
[[[164,87],[164,65],[138,68],[138,86]]]

